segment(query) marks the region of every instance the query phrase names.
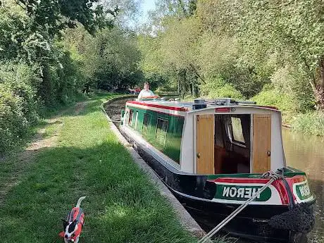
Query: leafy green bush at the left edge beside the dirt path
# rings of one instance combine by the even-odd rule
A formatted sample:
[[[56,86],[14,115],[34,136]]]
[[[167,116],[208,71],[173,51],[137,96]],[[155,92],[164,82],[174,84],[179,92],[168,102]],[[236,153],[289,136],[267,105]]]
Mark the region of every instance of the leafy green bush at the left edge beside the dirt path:
[[[0,155],[17,147],[39,120],[39,77],[25,63],[0,64]]]

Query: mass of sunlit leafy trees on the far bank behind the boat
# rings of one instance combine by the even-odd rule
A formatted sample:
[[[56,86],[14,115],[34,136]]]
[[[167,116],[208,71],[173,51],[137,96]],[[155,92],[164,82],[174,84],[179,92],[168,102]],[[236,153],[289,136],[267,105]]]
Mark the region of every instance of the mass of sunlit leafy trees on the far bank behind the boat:
[[[254,96],[290,118],[322,109],[323,9],[318,0],[159,1],[144,75],[163,74],[180,93]]]

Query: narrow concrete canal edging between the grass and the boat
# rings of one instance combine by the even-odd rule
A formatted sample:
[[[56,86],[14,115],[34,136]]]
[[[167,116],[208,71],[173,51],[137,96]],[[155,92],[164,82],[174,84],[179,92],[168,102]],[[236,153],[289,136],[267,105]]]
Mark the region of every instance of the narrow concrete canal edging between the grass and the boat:
[[[182,227],[185,228],[185,230],[190,232],[195,237],[199,237],[199,238],[203,237],[204,235],[206,235],[206,232],[204,232],[204,230],[201,229],[201,227],[194,220],[194,218],[192,218],[192,216],[190,216],[190,214],[185,210],[182,204],[180,204],[180,202],[177,201],[177,199],[173,196],[173,194],[170,192],[168,187],[166,187],[166,185],[163,184],[163,182],[156,175],[156,173],[154,173],[151,167],[147,165],[147,163],[142,159],[142,157],[139,156],[139,154],[137,154],[137,151],[135,151],[132,145],[129,142],[127,142],[127,140],[125,139],[125,137],[123,137],[123,135],[121,135],[121,133],[118,130],[118,127],[116,127],[116,125],[113,123],[111,118],[106,113],[106,110],[104,108],[105,106],[111,104],[113,101],[117,101],[119,99],[125,99],[127,97],[134,97],[134,96],[132,95],[118,96],[113,99],[104,101],[101,104],[101,110],[104,112],[106,116],[111,131],[113,131],[113,133],[116,135],[120,143],[123,144],[123,146],[127,149],[127,151],[129,151],[130,155],[133,158],[133,161],[137,164],[137,166],[139,166],[139,168],[141,168],[143,173],[149,177],[149,180],[151,180],[151,182],[154,185],[156,185],[156,188],[158,189],[160,194],[170,202],[170,205],[173,207],[173,210],[177,214],[177,218],[180,220],[180,224],[182,225]]]

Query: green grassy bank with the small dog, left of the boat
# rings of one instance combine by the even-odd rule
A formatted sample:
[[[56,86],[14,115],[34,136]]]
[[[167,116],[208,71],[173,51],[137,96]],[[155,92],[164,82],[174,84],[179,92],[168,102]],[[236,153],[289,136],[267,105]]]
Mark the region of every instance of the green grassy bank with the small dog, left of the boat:
[[[15,169],[25,163],[19,156],[1,162],[0,183],[14,178],[0,204],[1,242],[62,242],[61,218],[81,196],[87,199],[80,242],[196,241],[108,129],[99,105],[109,97],[96,96],[46,124],[55,143],[23,170]]]

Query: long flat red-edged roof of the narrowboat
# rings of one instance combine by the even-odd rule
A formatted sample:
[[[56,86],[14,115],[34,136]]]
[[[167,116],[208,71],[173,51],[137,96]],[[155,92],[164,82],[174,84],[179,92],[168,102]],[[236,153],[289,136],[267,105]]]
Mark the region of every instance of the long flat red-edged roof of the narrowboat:
[[[197,101],[198,100],[198,101]],[[149,106],[152,108],[167,108],[174,111],[199,111],[201,108],[194,109],[194,105],[206,104],[206,108],[217,108],[217,107],[253,107],[253,108],[263,108],[270,109],[273,111],[278,111],[278,108],[274,106],[258,106],[254,101],[235,101],[230,98],[221,98],[221,99],[196,99],[195,101],[166,101],[161,99],[151,99],[144,101],[127,101],[127,104],[139,105],[139,106]],[[148,108],[149,108],[148,107]]]

